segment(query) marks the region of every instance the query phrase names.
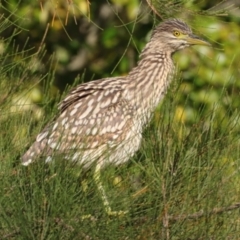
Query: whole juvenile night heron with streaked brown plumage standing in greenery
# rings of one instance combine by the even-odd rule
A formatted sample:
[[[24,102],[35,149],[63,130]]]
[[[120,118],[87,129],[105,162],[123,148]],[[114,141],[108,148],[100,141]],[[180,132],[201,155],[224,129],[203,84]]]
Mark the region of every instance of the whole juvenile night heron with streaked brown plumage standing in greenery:
[[[104,206],[110,208],[100,183],[100,170],[119,165],[139,149],[144,126],[164,97],[174,72],[172,55],[190,45],[209,45],[179,19],[161,23],[153,31],[140,60],[127,76],[80,84],[59,105],[59,116],[37,136],[22,157],[27,166],[55,154],[89,168]]]

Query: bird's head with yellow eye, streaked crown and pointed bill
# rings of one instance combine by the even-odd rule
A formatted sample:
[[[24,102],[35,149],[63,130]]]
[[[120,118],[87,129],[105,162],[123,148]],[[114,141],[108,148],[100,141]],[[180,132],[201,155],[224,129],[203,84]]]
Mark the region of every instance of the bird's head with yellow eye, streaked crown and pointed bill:
[[[153,31],[151,40],[156,43],[155,47],[158,42],[161,48],[166,48],[171,53],[191,45],[210,45],[194,35],[191,28],[179,19],[170,19],[158,25]]]

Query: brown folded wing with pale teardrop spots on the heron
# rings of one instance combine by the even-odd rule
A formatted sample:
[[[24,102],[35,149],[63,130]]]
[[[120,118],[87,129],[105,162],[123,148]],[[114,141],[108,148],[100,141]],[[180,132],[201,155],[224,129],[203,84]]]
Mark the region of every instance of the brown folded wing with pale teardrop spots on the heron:
[[[60,116],[36,141],[48,135],[47,146],[66,152],[115,146],[125,138],[133,109],[123,99],[124,78],[79,85],[59,105]]]

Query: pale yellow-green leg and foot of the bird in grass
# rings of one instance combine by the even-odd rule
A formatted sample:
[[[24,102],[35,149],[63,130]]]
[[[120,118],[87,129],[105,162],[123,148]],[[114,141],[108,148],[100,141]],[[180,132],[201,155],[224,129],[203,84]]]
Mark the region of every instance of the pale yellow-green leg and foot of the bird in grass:
[[[112,211],[111,207],[110,207],[110,204],[109,204],[109,201],[108,201],[108,198],[107,198],[107,195],[105,193],[105,190],[102,186],[102,183],[101,183],[101,179],[100,179],[100,173],[101,171],[101,164],[98,164],[96,165],[96,168],[95,168],[95,171],[94,171],[94,180],[95,180],[95,183],[98,187],[98,191],[100,192],[101,194],[101,197],[102,197],[102,200],[103,200],[103,205],[105,207],[105,210],[107,212],[108,215],[111,215],[111,216],[120,216],[120,215],[124,215],[127,213],[127,211]]]

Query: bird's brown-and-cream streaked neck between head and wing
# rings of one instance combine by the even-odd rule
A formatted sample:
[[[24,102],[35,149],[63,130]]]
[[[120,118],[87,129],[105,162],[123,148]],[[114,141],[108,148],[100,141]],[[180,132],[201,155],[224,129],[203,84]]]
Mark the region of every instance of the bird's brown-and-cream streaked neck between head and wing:
[[[174,70],[171,53],[145,48],[138,65],[127,76],[126,97],[146,123],[164,97]]]

